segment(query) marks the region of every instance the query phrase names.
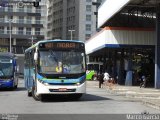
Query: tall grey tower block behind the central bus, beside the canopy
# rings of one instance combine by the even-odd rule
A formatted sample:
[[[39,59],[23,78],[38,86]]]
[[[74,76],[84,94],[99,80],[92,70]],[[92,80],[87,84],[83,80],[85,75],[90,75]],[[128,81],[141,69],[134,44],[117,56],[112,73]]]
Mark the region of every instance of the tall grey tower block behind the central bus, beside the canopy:
[[[95,0],[50,0],[48,39],[85,41],[96,32]],[[101,1],[100,1],[101,2]]]

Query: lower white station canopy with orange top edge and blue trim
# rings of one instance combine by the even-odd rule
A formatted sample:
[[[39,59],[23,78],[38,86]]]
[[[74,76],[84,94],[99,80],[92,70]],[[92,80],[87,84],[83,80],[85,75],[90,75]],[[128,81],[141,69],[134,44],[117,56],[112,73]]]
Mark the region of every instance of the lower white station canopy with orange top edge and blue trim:
[[[86,54],[96,53],[105,48],[126,48],[135,46],[155,46],[154,29],[105,27],[85,43]]]

